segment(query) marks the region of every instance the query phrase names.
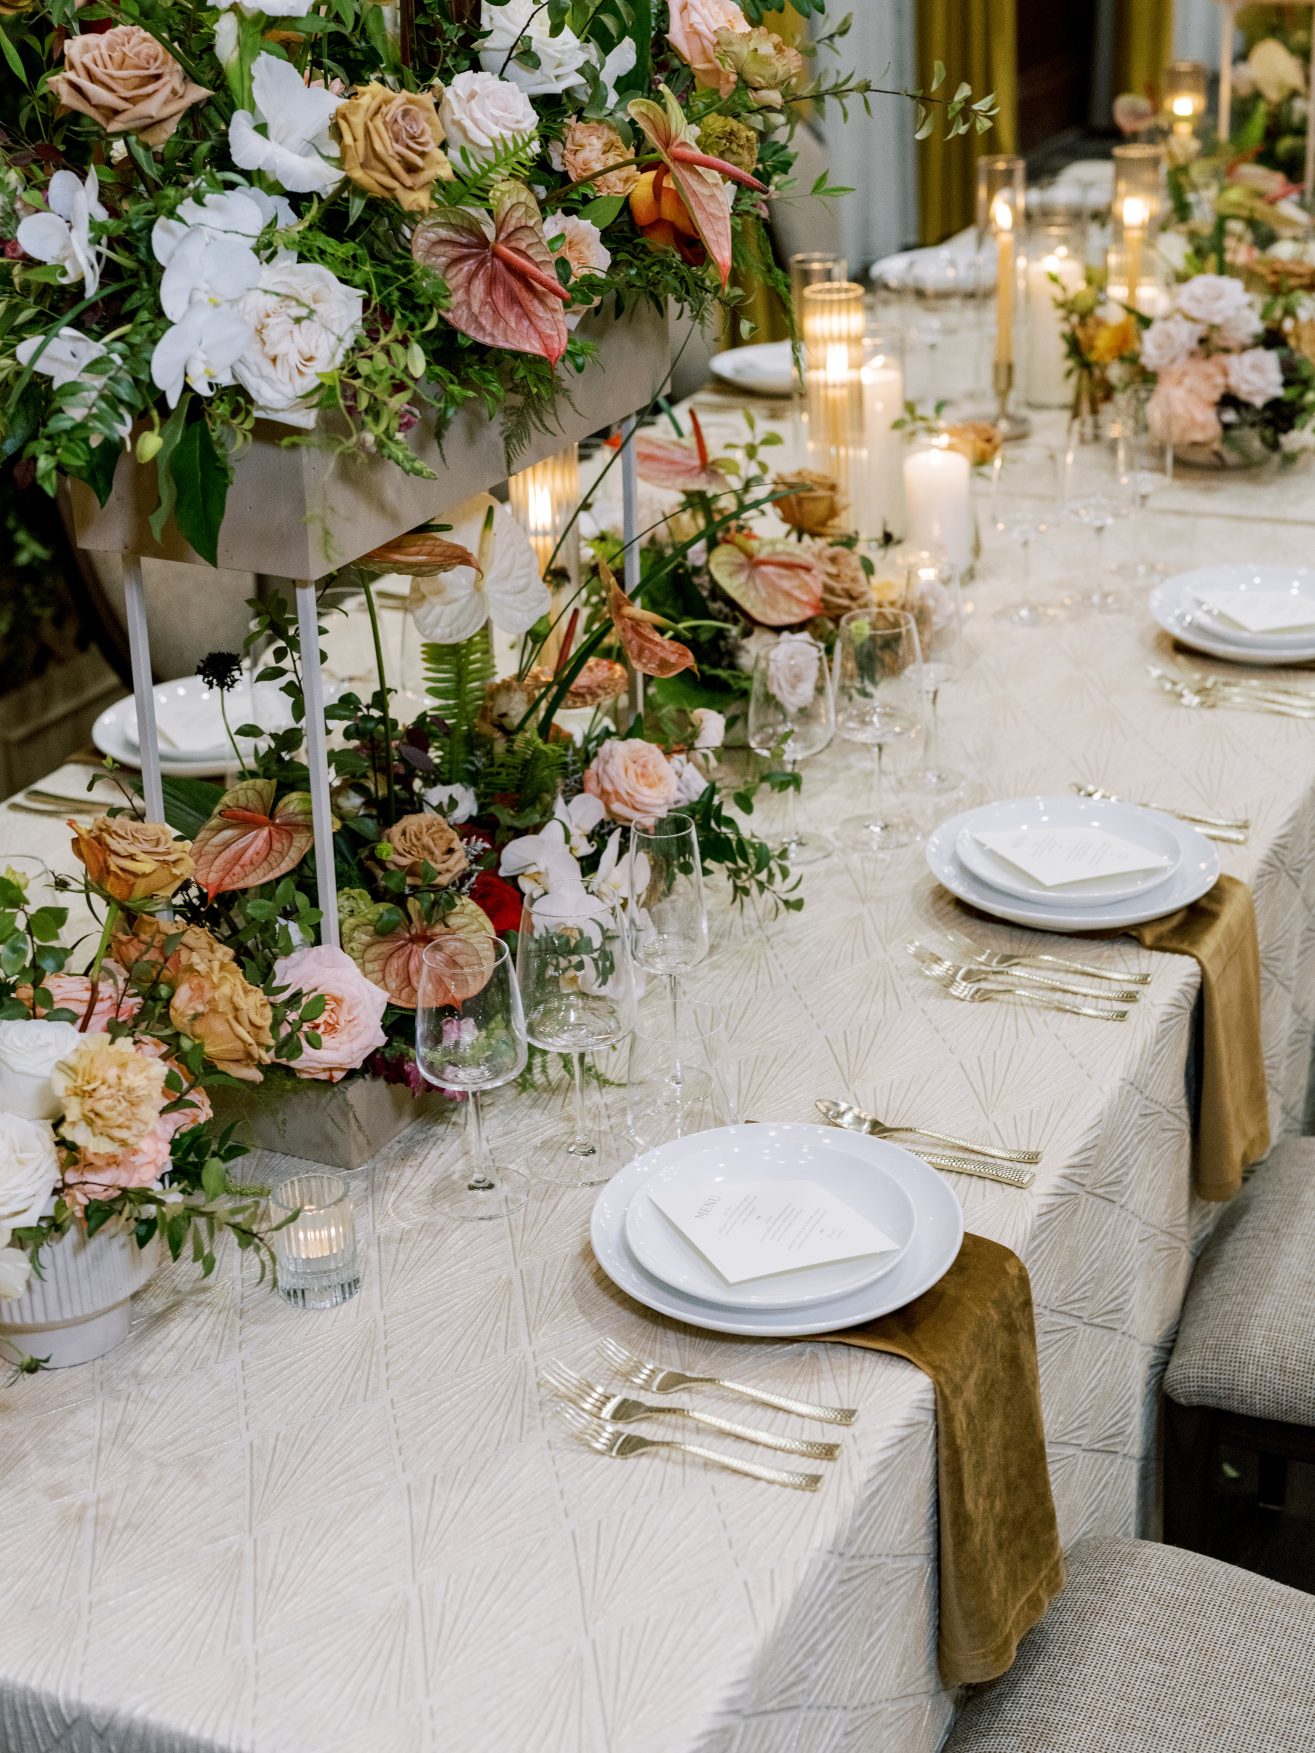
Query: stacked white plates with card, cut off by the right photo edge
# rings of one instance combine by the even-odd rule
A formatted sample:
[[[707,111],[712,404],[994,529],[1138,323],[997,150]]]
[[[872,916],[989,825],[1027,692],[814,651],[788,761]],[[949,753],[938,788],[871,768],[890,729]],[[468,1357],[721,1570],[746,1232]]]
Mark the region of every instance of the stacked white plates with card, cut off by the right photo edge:
[[[1315,659],[1315,570],[1198,566],[1150,593],[1150,614],[1180,645],[1226,663]]]

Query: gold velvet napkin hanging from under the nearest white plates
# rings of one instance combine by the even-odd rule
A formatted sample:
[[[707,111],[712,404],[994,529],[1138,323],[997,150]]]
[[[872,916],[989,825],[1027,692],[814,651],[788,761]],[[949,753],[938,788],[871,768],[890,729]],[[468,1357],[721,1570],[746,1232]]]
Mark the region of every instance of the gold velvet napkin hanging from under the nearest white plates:
[[[947,1686],[994,1679],[1064,1586],[1027,1269],[968,1234],[915,1302],[824,1338],[906,1357],[936,1387],[936,1658]]]

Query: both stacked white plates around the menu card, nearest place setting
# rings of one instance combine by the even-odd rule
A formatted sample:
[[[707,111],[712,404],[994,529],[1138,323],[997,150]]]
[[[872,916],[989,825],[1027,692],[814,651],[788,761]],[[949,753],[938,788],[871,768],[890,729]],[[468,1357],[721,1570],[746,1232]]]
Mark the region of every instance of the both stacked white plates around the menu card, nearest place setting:
[[[659,1210],[652,1194],[808,1182],[884,1231],[880,1253],[731,1283]],[[940,1280],[963,1243],[963,1211],[920,1157],[829,1125],[722,1125],[672,1139],[626,1164],[598,1196],[591,1239],[626,1295],[691,1327],[798,1338],[903,1308]]]

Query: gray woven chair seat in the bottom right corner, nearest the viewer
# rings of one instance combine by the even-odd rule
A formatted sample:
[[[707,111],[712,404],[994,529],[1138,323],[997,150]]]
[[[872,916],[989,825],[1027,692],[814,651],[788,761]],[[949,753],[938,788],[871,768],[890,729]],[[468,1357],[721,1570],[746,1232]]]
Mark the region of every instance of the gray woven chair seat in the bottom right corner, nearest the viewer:
[[[1089,1539],[942,1753],[1310,1753],[1315,1597],[1199,1553]]]

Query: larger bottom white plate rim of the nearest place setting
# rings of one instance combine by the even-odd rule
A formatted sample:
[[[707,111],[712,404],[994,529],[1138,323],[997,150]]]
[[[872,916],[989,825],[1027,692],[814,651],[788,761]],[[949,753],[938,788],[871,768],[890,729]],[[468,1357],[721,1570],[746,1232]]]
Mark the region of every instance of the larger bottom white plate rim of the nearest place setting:
[[[845,1134],[838,1127],[777,1124],[719,1127],[728,1139],[743,1132],[771,1131],[785,1143],[817,1143],[822,1152],[835,1152]],[[626,1295],[673,1320],[708,1332],[735,1332],[745,1338],[801,1339],[814,1332],[831,1332],[835,1327],[857,1327],[877,1320],[891,1309],[903,1308],[913,1297],[929,1290],[954,1264],[963,1245],[963,1210],[949,1183],[920,1157],[891,1145],[884,1138],[852,1134],[875,1167],[898,1182],[913,1204],[913,1236],[899,1257],[899,1264],[875,1283],[847,1290],[826,1302],[812,1302],[798,1309],[728,1309],[701,1297],[665,1285],[647,1273],[626,1241],[626,1208],[645,1180],[654,1173],[652,1152],[628,1162],[619,1175],[600,1190],[589,1224],[594,1257],[607,1276]],[[849,1152],[845,1153],[849,1155]],[[840,1160],[836,1157],[836,1160]]]

